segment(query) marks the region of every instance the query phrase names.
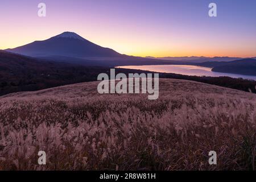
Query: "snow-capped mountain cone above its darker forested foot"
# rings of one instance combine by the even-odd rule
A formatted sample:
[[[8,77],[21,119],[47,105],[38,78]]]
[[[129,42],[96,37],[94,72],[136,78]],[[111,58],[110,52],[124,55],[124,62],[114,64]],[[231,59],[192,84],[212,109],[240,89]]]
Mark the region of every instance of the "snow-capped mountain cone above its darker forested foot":
[[[26,56],[124,57],[113,49],[89,42],[74,32],[64,32],[47,40],[35,41],[6,51]]]

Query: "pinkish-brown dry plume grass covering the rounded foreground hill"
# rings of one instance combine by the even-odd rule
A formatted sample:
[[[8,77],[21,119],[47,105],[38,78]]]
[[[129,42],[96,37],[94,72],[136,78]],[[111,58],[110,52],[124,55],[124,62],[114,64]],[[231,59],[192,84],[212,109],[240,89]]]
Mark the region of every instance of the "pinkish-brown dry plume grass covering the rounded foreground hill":
[[[255,169],[255,106],[251,93],[171,79],[154,101],[99,95],[97,82],[10,94],[0,97],[0,169]]]

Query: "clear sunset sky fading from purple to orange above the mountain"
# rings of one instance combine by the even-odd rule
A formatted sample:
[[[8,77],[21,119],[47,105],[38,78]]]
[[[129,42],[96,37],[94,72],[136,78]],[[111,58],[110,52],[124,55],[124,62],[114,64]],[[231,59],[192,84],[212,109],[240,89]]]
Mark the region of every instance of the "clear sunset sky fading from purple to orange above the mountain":
[[[38,16],[46,3],[47,16]],[[210,2],[218,17],[208,16]],[[256,56],[255,0],[1,0],[0,49],[72,31],[134,56]]]

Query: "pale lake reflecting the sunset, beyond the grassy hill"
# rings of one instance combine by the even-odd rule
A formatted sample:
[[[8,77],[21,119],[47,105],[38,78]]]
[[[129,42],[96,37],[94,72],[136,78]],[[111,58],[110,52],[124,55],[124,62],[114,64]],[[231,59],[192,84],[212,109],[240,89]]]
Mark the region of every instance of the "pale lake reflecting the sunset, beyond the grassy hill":
[[[160,72],[160,73],[176,73],[189,76],[228,76],[232,78],[243,78],[248,80],[256,80],[256,76],[239,75],[232,73],[212,72],[212,68],[199,67],[194,65],[142,65],[142,66],[122,66],[116,68],[140,69],[144,71]]]

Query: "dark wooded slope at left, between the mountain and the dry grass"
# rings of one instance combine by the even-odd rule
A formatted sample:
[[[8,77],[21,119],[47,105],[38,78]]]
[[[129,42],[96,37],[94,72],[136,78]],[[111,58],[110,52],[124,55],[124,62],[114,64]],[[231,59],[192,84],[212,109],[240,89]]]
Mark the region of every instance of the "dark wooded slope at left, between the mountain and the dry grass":
[[[109,68],[56,63],[0,51],[0,96],[96,80]]]

